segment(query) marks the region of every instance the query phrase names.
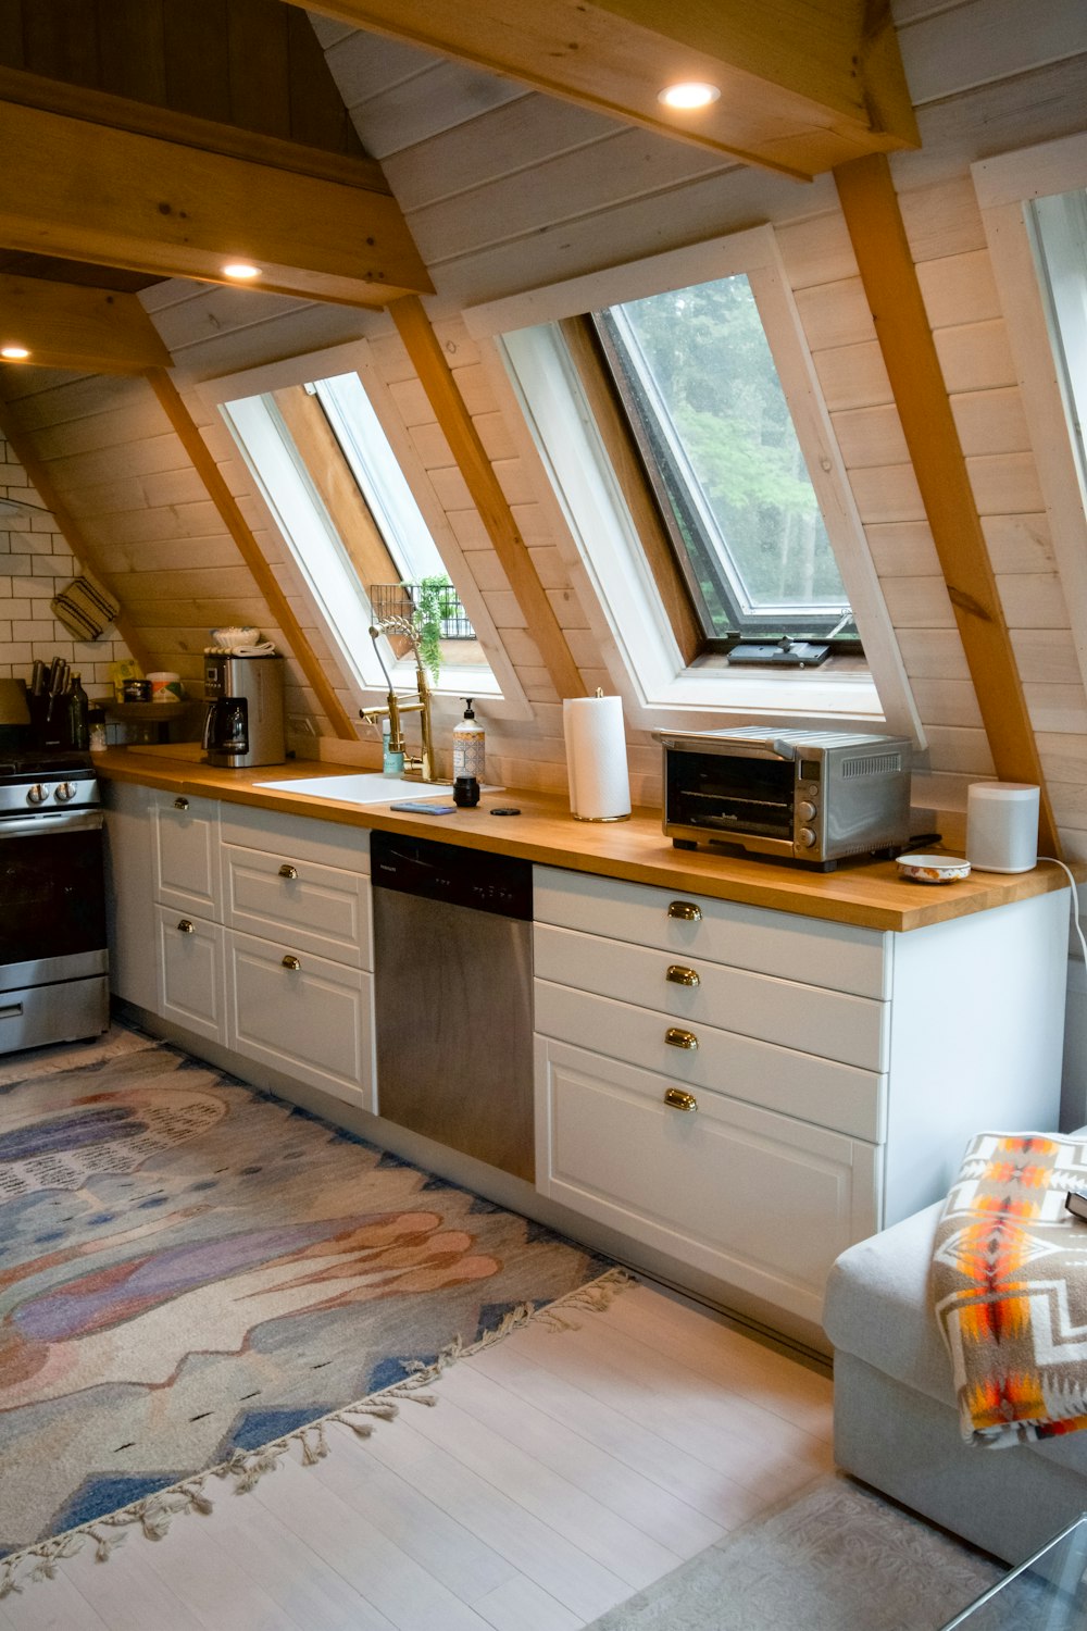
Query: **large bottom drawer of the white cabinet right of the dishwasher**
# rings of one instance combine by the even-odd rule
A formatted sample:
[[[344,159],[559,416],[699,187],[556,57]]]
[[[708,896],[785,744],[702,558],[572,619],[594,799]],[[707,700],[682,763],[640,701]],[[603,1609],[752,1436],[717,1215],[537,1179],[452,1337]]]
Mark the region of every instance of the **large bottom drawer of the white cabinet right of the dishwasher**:
[[[816,1321],[834,1258],[878,1227],[880,1151],[751,1104],[536,1042],[538,1189]]]

